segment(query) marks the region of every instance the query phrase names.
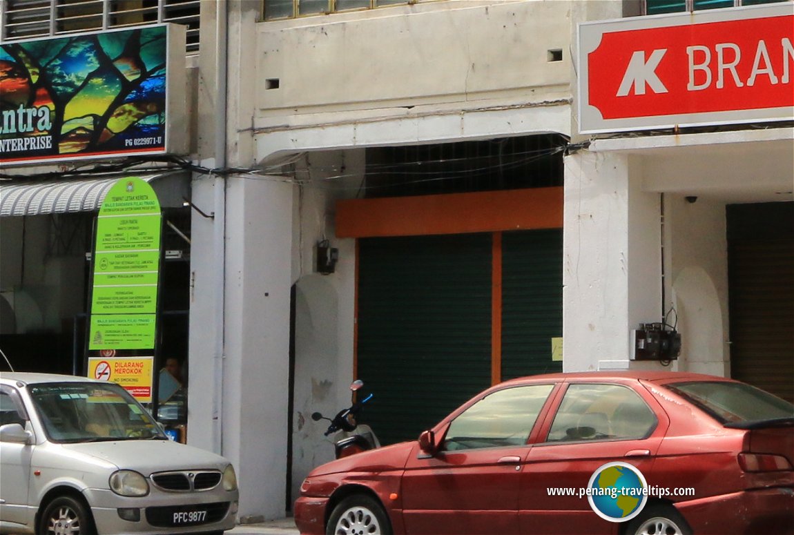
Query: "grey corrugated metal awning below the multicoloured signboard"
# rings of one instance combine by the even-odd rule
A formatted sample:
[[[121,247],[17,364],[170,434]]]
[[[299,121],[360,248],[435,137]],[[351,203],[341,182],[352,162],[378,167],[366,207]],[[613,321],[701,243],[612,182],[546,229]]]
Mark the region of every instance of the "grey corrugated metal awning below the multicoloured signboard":
[[[166,176],[185,175],[184,171],[168,171],[157,175],[133,172],[101,179],[48,179],[0,182],[0,217],[71,214],[99,210],[105,195],[118,179],[137,176],[148,183]],[[154,184],[152,184],[154,187]],[[162,202],[161,202],[162,204]]]

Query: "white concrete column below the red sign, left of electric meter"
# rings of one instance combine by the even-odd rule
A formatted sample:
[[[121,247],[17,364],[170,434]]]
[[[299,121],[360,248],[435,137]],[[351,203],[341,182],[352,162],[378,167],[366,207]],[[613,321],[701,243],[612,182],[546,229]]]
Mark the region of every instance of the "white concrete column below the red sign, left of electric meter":
[[[563,225],[563,369],[647,366],[630,363],[630,329],[661,321],[661,210],[640,161],[566,157]]]

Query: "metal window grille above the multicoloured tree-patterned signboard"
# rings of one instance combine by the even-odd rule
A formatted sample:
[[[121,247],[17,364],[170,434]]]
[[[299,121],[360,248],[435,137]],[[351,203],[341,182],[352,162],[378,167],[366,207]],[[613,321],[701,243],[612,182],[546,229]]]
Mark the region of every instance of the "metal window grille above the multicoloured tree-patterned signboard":
[[[188,54],[198,52],[200,0],[0,0],[0,39],[174,22],[187,26]]]

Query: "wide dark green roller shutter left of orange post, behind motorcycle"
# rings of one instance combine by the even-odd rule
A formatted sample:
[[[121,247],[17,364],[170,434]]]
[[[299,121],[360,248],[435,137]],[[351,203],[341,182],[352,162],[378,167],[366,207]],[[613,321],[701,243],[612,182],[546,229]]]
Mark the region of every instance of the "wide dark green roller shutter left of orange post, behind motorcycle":
[[[361,421],[414,440],[491,383],[491,235],[359,241]]]

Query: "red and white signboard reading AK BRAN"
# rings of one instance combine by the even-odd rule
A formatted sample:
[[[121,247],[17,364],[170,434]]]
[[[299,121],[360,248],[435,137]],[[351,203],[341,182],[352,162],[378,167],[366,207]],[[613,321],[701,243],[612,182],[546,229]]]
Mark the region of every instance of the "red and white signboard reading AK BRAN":
[[[791,121],[794,2],[579,25],[580,133]]]

